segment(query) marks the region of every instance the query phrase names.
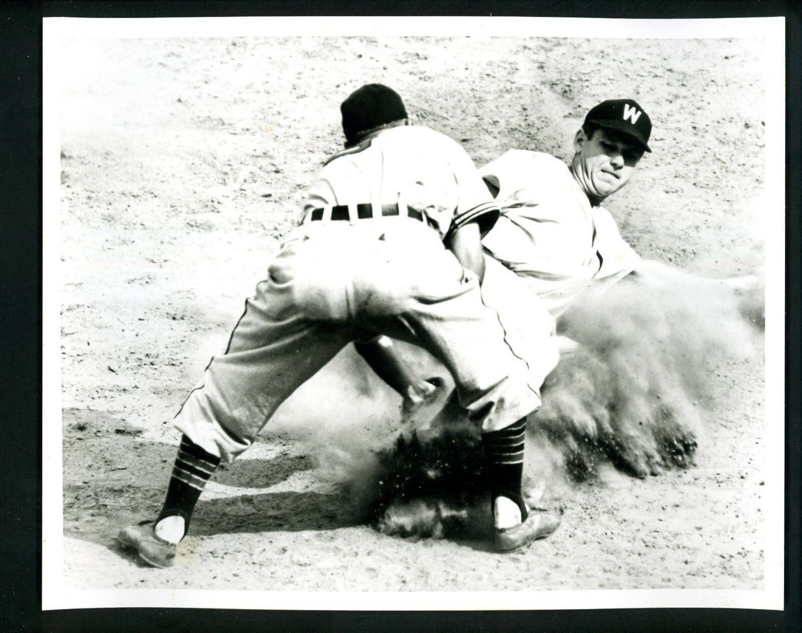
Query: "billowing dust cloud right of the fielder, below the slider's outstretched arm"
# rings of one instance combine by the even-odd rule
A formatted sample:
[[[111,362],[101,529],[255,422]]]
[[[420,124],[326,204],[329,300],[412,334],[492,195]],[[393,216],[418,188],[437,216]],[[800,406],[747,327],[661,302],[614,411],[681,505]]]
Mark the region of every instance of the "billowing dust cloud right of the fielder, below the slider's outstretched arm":
[[[573,480],[606,461],[637,477],[693,465],[723,367],[759,349],[761,288],[635,277],[585,296],[560,323],[579,347],[546,380],[529,431]]]

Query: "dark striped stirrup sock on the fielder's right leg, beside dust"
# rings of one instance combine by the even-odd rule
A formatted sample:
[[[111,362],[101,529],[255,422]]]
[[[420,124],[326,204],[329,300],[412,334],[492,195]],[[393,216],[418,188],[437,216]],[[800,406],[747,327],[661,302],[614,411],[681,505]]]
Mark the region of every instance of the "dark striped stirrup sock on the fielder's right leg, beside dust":
[[[525,436],[526,418],[500,431],[482,433],[484,453],[488,458],[491,502],[496,497],[512,499],[518,504],[524,520],[527,510],[520,485],[524,477]]]

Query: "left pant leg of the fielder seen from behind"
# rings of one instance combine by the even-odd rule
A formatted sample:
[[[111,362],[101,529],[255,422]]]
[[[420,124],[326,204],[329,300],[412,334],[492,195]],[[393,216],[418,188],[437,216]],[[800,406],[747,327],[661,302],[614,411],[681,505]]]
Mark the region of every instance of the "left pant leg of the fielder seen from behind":
[[[249,448],[278,406],[353,338],[342,320],[310,318],[297,300],[305,279],[298,278],[296,262],[286,248],[271,263],[269,278],[245,302],[225,354],[213,357],[176,415],[177,428],[227,461]],[[311,293],[323,304],[326,294],[329,303],[342,302],[336,284]]]

